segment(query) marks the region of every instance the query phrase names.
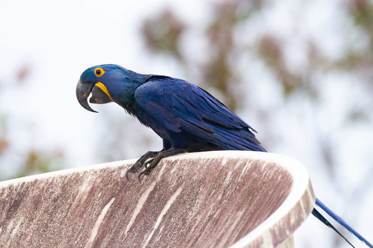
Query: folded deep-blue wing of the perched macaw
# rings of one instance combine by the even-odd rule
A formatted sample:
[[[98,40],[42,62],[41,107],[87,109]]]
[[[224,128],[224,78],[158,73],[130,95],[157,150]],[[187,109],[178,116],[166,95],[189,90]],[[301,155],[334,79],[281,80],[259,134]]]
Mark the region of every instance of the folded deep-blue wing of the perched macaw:
[[[156,120],[144,120],[153,129],[188,132],[222,149],[266,151],[253,128],[207,91],[184,80],[152,76],[137,88],[135,100]]]

